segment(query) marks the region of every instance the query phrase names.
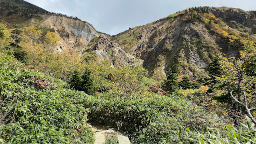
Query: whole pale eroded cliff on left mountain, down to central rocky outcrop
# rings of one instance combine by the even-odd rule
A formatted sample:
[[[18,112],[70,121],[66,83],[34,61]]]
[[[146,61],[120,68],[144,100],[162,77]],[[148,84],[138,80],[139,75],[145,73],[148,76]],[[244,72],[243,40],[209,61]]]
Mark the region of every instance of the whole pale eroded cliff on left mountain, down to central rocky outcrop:
[[[58,41],[56,49],[72,50],[80,53],[95,53],[99,60],[107,60],[112,67],[121,68],[122,65],[132,65],[134,60],[142,63],[125,52],[122,48],[113,43],[111,37],[107,34],[97,32],[90,24],[85,21],[73,19],[60,15],[42,15],[44,20],[40,26],[53,28],[56,34],[61,38]],[[97,41],[93,43],[94,38]],[[90,45],[93,43],[92,45]]]

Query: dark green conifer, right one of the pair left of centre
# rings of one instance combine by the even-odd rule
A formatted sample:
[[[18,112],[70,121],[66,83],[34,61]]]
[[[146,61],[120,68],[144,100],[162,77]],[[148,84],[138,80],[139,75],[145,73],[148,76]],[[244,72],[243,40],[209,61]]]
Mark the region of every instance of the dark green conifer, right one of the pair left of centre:
[[[93,95],[95,93],[95,85],[93,83],[93,77],[91,76],[91,71],[89,68],[85,68],[85,72],[82,75],[82,80],[81,80],[81,91],[86,92],[89,95]]]

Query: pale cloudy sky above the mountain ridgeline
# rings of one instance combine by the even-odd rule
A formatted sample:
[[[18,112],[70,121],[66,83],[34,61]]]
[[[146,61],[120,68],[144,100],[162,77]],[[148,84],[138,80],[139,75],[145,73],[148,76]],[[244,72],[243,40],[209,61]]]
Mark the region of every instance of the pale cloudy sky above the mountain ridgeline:
[[[256,0],[25,0],[50,12],[77,16],[110,35],[144,25],[192,6],[256,10]]]

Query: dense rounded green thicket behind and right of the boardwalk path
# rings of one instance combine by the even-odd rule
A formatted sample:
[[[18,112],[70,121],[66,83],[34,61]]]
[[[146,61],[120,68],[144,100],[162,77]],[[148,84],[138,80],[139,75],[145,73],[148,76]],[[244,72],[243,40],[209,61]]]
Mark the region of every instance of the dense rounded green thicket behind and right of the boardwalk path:
[[[92,121],[115,126],[129,134],[134,144],[198,143],[199,138],[189,139],[176,131],[219,131],[225,126],[224,117],[205,112],[202,107],[179,96],[133,97],[119,99],[87,99]],[[163,144],[165,144],[163,143]]]

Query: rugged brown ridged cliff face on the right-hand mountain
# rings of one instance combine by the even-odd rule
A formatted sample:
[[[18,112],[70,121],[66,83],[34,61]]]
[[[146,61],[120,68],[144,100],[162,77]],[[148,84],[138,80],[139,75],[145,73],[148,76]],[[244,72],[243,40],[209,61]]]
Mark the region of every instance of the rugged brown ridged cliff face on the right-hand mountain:
[[[203,68],[218,54],[219,46],[215,43],[216,37],[210,35],[204,25],[186,22],[184,18],[184,14],[177,16],[173,22],[164,18],[120,33],[113,40],[118,44],[122,34],[129,36],[139,31],[139,36],[135,36],[138,42],[127,52],[144,60],[143,67],[157,80],[165,79],[166,71],[174,65],[184,74],[202,75],[205,73]],[[197,42],[201,40],[208,45],[199,47]],[[125,44],[119,46],[124,48]],[[211,52],[204,54],[204,51]]]

